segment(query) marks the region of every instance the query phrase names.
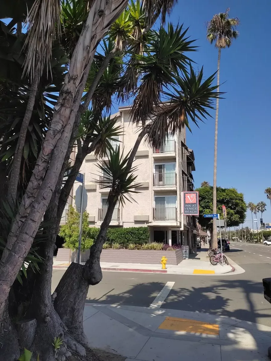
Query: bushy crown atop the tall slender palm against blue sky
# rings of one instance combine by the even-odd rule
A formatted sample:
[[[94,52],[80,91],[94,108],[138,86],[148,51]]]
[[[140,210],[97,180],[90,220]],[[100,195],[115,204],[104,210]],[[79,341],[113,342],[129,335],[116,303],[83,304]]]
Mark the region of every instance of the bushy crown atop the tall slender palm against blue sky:
[[[207,40],[216,48],[230,47],[232,39],[239,35],[236,26],[239,25],[238,18],[229,18],[229,8],[225,13],[215,14],[211,21],[207,22]]]

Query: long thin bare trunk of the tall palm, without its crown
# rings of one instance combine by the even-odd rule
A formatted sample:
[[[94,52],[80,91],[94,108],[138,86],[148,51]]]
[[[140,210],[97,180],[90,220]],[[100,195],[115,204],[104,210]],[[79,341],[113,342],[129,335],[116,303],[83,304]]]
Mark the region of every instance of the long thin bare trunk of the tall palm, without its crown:
[[[220,75],[220,55],[221,48],[218,48],[218,75],[217,75],[217,92],[219,92],[219,75]],[[216,170],[218,162],[218,107],[219,99],[216,99],[216,112],[215,112],[215,152],[214,152],[214,184],[213,184],[213,213],[216,214]],[[212,248],[218,248],[218,234],[215,219],[213,219],[213,237]]]

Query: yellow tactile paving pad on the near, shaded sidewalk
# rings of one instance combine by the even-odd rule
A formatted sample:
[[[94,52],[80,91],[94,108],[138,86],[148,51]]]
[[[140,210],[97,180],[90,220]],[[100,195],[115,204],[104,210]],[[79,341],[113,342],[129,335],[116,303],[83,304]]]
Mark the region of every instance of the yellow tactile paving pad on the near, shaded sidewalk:
[[[166,317],[158,328],[163,330],[219,335],[219,325],[187,318]]]

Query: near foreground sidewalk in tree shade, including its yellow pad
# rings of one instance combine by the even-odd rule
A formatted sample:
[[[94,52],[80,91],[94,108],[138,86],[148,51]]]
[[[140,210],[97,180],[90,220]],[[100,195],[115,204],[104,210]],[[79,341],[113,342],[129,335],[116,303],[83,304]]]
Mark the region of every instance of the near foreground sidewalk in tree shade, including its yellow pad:
[[[235,318],[171,309],[86,304],[91,348],[126,361],[269,360],[271,327]]]

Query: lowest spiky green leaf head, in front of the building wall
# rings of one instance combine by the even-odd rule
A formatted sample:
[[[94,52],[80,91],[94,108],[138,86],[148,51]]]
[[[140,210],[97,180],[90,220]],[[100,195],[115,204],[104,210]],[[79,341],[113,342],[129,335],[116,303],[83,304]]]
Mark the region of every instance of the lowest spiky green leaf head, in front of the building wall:
[[[107,202],[113,204],[118,201],[122,206],[127,201],[135,201],[132,197],[133,193],[138,193],[134,188],[139,186],[134,184],[137,175],[133,174],[136,167],[129,168],[127,163],[130,152],[124,156],[123,151],[120,152],[120,147],[116,149],[109,149],[108,161],[100,161],[97,166],[101,171],[101,179],[96,181],[104,187],[110,187]]]

